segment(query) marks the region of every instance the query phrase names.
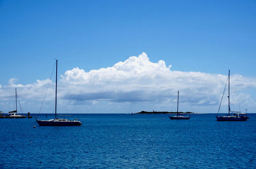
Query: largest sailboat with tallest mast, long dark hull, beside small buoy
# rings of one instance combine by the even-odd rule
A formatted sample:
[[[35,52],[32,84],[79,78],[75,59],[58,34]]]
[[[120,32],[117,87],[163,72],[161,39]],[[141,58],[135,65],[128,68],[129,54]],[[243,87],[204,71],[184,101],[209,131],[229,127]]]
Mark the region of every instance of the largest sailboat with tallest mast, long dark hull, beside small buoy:
[[[57,72],[58,72],[58,60],[56,60],[56,83],[55,83],[55,118],[50,120],[36,120],[40,126],[80,126],[81,121],[74,119],[70,121],[68,119],[57,118]]]

